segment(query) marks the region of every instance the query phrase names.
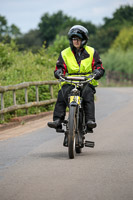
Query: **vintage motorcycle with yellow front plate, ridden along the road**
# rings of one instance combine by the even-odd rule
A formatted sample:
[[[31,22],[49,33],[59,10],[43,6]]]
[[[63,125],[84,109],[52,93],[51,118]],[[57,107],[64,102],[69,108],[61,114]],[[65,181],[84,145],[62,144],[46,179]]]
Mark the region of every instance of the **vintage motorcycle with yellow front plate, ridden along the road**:
[[[68,99],[69,102],[69,114],[68,119],[63,121],[64,129],[56,130],[57,132],[64,132],[67,139],[68,156],[70,159],[75,157],[76,153],[81,153],[83,147],[95,146],[92,141],[85,141],[85,134],[88,132],[85,124],[85,113],[83,110],[83,103],[81,97],[81,87],[84,84],[91,82],[95,78],[95,75],[87,76],[66,76],[60,75],[60,82],[67,82],[73,84],[74,88],[70,92]]]

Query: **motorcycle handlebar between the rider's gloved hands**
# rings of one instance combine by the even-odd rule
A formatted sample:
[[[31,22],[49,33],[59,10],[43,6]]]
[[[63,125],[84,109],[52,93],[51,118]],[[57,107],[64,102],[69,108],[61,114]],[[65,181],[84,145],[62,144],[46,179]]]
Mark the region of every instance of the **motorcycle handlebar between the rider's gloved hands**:
[[[89,78],[89,80],[88,80]],[[68,82],[68,83],[74,83],[74,84],[77,84],[77,83],[87,83],[87,82],[91,82],[93,79],[95,78],[95,74],[91,74],[89,76],[62,76],[60,75],[60,78],[59,80],[61,82]],[[75,82],[76,81],[76,82]],[[77,82],[78,81],[78,82]]]

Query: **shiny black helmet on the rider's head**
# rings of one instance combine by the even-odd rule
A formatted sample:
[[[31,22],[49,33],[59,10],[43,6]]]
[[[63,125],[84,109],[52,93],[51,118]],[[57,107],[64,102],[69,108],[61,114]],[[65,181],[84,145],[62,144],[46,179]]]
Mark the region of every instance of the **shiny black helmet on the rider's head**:
[[[81,25],[75,25],[72,28],[70,28],[70,30],[68,32],[70,46],[73,45],[72,38],[74,36],[79,37],[82,40],[82,46],[84,46],[88,41],[88,30]]]

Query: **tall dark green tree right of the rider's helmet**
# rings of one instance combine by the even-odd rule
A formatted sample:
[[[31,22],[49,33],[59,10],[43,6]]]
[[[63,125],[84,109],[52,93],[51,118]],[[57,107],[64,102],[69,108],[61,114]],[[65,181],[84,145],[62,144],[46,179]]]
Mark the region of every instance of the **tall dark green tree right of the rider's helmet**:
[[[106,52],[113,44],[119,32],[124,27],[133,25],[133,6],[121,6],[112,18],[104,18],[104,25],[97,29],[95,35],[90,37],[90,44],[100,53]]]

